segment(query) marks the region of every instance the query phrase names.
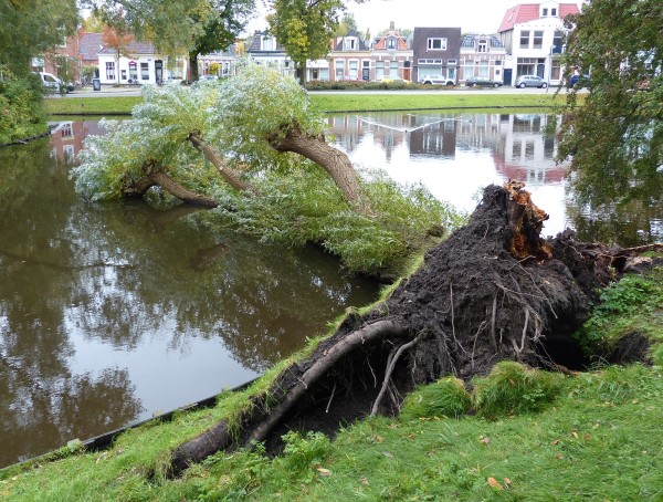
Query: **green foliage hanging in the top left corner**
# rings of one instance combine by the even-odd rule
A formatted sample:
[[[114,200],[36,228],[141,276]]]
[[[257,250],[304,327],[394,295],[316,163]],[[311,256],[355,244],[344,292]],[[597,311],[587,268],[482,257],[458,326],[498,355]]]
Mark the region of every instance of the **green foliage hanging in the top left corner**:
[[[0,64],[27,75],[31,59],[61,45],[77,21],[75,0],[0,0]]]

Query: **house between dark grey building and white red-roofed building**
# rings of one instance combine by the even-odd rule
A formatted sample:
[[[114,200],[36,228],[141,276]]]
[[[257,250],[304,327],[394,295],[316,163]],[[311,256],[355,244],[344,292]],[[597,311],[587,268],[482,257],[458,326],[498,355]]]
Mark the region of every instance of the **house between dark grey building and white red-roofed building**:
[[[459,82],[472,76],[487,76],[502,81],[505,55],[506,49],[495,35],[463,35]]]

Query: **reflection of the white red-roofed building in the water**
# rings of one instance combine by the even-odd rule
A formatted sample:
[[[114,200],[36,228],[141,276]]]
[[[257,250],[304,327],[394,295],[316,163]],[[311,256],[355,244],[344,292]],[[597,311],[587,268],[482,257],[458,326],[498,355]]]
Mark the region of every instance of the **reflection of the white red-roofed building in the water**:
[[[541,135],[547,124],[547,115],[502,116],[502,151],[493,150],[493,157],[504,178],[529,186],[562,181],[567,165],[555,161],[555,138]]]

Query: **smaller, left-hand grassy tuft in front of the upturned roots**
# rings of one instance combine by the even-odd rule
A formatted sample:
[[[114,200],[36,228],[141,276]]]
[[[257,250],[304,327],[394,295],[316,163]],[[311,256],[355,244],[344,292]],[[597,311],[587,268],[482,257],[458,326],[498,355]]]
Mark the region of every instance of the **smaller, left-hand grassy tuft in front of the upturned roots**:
[[[463,380],[444,377],[408,394],[400,412],[401,420],[419,418],[459,418],[470,409],[471,398]]]

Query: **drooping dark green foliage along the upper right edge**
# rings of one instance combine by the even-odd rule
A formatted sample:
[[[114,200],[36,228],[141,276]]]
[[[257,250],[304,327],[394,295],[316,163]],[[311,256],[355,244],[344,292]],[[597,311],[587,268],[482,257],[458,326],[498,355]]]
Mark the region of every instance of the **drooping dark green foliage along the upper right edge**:
[[[591,73],[591,92],[576,106],[567,94],[558,158],[571,156],[580,203],[596,208],[663,197],[663,2],[601,0],[570,20],[564,64]]]

